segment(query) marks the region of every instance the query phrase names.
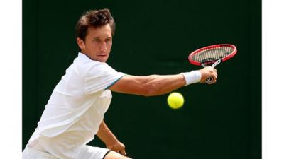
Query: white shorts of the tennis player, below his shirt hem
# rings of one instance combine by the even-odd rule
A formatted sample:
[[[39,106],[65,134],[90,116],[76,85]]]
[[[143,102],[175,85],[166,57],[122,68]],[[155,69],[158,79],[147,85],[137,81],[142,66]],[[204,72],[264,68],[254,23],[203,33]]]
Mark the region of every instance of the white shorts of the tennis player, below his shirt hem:
[[[99,148],[85,145],[80,148],[80,153],[78,157],[74,159],[104,159],[104,157],[107,155],[107,153],[109,153],[109,151],[110,150],[107,148]],[[28,146],[26,146],[26,148],[23,150],[22,156],[23,159],[58,159],[50,153],[38,151]]]

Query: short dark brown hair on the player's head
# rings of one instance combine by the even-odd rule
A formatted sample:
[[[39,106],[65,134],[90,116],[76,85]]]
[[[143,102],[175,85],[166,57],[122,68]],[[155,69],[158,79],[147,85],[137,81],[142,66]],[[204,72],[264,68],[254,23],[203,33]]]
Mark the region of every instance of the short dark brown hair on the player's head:
[[[111,35],[114,35],[115,23],[109,9],[91,10],[84,13],[77,22],[75,27],[76,38],[85,40],[88,28],[99,28],[109,24],[111,27]]]

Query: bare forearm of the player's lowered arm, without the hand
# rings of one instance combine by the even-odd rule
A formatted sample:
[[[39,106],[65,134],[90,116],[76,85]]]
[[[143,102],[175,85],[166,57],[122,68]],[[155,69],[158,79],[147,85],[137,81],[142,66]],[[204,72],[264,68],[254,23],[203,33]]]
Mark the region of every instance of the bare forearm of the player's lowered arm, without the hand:
[[[101,139],[106,145],[109,145],[111,143],[115,143],[118,140],[116,139],[116,136],[112,134],[110,129],[107,127],[107,124],[102,122],[102,124],[99,126],[99,131],[97,132],[97,136],[99,139]]]

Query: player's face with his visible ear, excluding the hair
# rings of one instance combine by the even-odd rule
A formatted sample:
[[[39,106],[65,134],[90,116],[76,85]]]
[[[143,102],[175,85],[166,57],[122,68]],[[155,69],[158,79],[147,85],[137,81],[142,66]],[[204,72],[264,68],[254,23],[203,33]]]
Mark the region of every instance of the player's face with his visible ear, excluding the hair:
[[[77,38],[81,52],[93,60],[106,62],[112,45],[111,28],[109,24],[99,28],[88,28],[86,39]]]

